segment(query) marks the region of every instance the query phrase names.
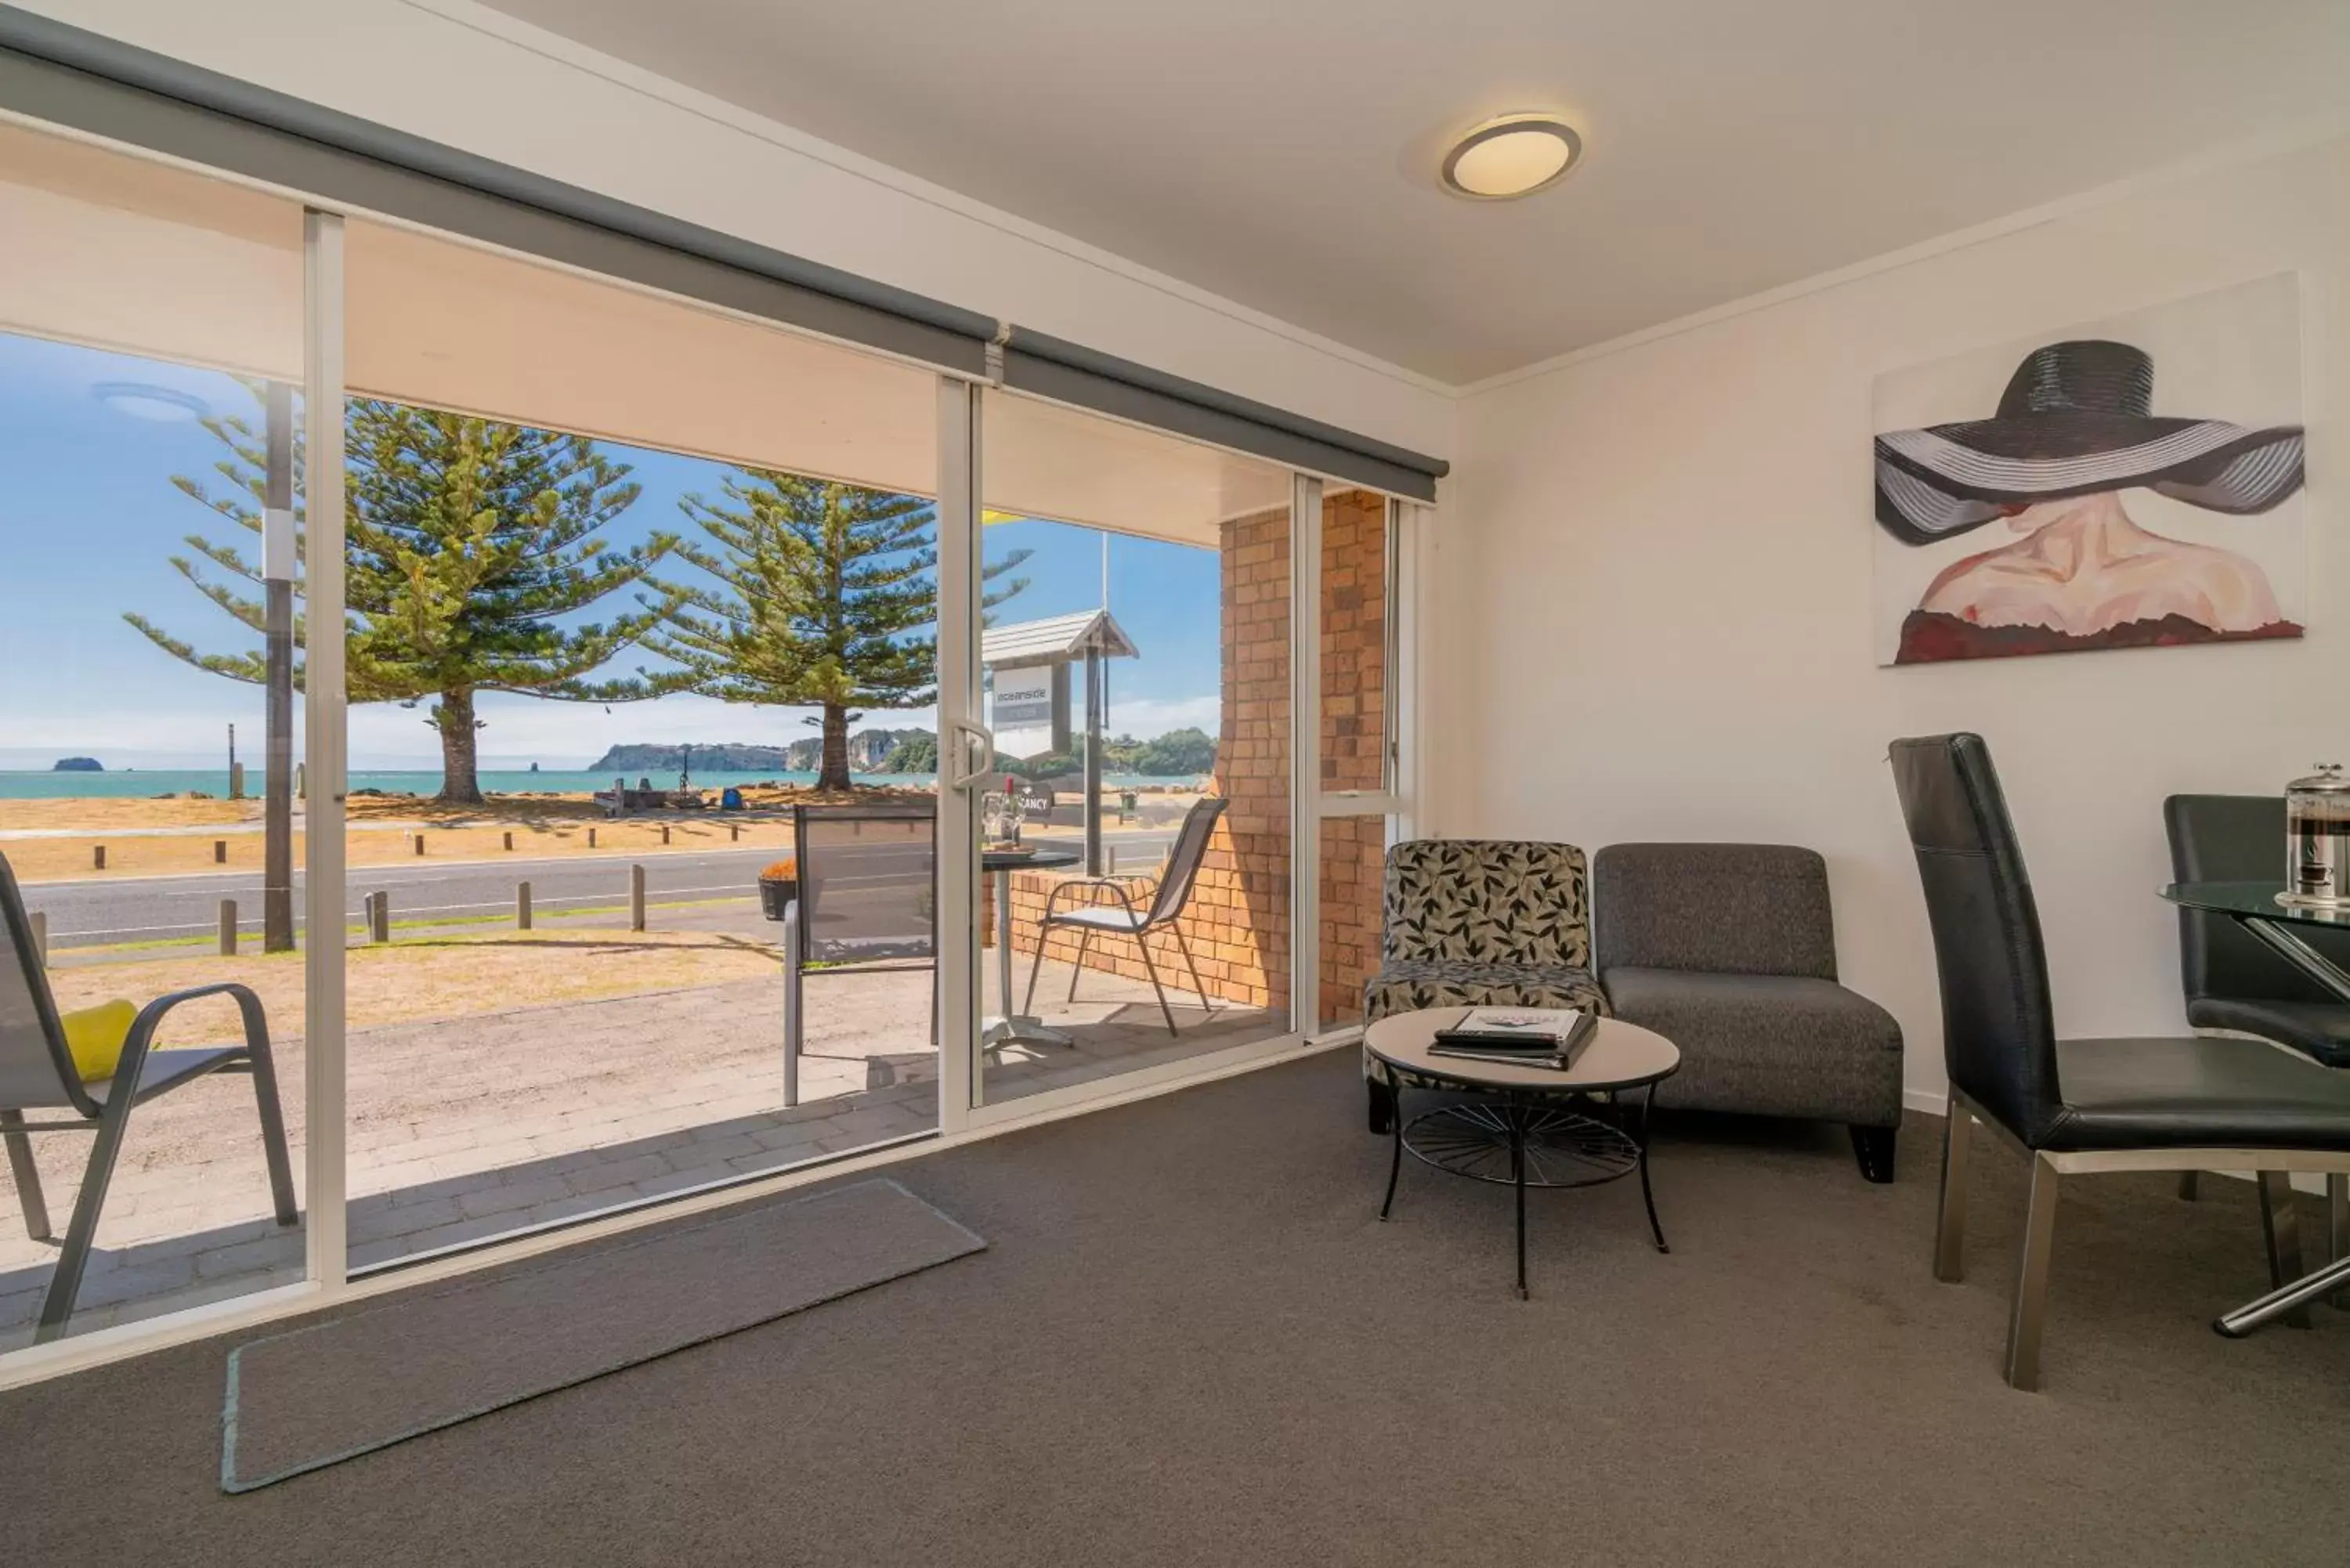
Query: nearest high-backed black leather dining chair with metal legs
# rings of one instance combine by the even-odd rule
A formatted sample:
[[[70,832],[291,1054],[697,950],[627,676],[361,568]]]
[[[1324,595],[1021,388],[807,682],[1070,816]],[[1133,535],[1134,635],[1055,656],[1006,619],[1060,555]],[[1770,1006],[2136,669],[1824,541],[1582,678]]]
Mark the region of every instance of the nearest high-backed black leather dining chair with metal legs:
[[[1972,733],[1894,741],[1892,769],[1934,931],[1950,1077],[1934,1276],[1962,1272],[1967,1157],[1983,1124],[2033,1168],[2007,1316],[2007,1382],[2033,1389],[2061,1178],[2256,1171],[2275,1197],[2287,1171],[2350,1171],[2350,1074],[2258,1039],[2056,1039],[2040,910],[1990,748]],[[2280,1253],[2298,1251],[2289,1227],[2280,1201]]]

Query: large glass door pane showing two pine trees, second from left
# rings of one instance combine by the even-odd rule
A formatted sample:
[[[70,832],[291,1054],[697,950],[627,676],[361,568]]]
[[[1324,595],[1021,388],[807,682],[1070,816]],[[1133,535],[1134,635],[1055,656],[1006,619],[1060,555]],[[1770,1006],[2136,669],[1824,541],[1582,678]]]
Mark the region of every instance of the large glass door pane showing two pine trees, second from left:
[[[933,1128],[935,378],[348,254],[352,1267]]]

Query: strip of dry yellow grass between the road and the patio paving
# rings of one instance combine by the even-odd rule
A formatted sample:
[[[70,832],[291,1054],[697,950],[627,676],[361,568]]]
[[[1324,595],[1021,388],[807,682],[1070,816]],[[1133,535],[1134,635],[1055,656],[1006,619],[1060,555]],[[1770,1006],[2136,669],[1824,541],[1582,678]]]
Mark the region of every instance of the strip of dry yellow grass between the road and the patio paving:
[[[710,931],[498,931],[352,947],[345,969],[345,1027],[470,1018],[552,1001],[595,1001],[686,990],[776,973],[778,952]],[[148,1001],[188,985],[237,980],[261,994],[273,1034],[298,1037],[303,959],[298,952],[75,964],[49,971],[61,1009],[122,997]],[[237,1034],[228,999],[193,1001],[164,1023],[162,1044]]]

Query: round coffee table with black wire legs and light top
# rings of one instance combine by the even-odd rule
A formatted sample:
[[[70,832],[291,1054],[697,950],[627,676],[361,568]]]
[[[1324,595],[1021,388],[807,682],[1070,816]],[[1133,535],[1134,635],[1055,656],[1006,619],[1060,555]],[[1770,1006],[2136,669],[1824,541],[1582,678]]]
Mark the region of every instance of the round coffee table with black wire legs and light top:
[[[1384,1220],[1396,1206],[1396,1178],[1403,1175],[1403,1152],[1422,1164],[1480,1182],[1506,1182],[1518,1192],[1518,1298],[1525,1291],[1525,1190],[1593,1187],[1598,1182],[1640,1175],[1640,1201],[1657,1251],[1673,1248],[1657,1222],[1657,1194],[1647,1185],[1647,1117],[1657,1103],[1657,1084],[1680,1070],[1680,1048],[1664,1034],[1636,1023],[1600,1018],[1574,1065],[1520,1067],[1462,1056],[1436,1056],[1438,1030],[1455,1027],[1471,1009],[1443,1006],[1382,1018],[1363,1032],[1363,1046],[1386,1065],[1396,1088],[1434,1088],[1476,1095],[1469,1103],[1441,1105],[1403,1117],[1396,1095],[1396,1154],[1386,1168]],[[1544,1009],[1511,1009],[1544,1011]],[[1560,1013],[1565,1018],[1565,1013]],[[1638,1133],[1624,1128],[1626,1091],[1640,1098]],[[1612,1117],[1593,1114],[1596,1095],[1610,1095]]]

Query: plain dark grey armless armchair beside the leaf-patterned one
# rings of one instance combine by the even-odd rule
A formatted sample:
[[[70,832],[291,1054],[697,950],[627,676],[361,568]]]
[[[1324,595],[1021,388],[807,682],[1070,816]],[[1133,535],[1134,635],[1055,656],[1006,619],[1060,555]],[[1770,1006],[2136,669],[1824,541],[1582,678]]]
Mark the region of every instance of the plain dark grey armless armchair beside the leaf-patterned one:
[[[1901,1025],[1835,983],[1817,853],[1610,844],[1593,884],[1610,1011],[1680,1046],[1657,1105],[1842,1121],[1861,1175],[1894,1178]]]

